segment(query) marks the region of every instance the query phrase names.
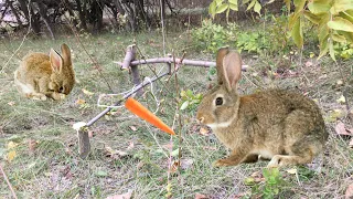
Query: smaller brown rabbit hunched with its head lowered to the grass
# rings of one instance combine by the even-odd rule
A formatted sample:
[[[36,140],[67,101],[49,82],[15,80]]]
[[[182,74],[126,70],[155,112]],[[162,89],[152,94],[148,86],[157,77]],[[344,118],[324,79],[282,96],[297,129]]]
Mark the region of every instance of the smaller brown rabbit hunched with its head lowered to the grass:
[[[71,51],[62,44],[62,55],[53,49],[50,55],[30,53],[25,55],[14,72],[14,84],[24,96],[45,101],[64,100],[75,84],[75,72],[71,60]]]

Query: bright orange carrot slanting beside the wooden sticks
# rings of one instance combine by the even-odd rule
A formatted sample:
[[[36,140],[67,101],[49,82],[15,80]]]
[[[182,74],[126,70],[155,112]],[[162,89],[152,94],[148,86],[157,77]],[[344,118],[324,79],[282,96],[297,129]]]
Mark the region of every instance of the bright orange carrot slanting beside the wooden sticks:
[[[153,115],[150,111],[148,111],[145,106],[142,106],[142,104],[140,104],[132,97],[129,97],[128,100],[126,100],[125,107],[128,108],[130,112],[132,112],[135,115],[141,117],[142,119],[149,122],[153,126],[160,128],[161,130],[170,135],[175,135],[175,133],[169,126],[167,126],[160,118]]]

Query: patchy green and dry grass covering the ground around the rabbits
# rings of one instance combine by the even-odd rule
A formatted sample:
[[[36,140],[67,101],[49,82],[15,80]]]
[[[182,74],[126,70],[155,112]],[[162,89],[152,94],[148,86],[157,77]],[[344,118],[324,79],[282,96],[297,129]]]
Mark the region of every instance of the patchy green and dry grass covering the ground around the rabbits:
[[[104,93],[120,93],[132,87],[131,78],[127,71],[114,64],[114,61],[124,60],[124,50],[135,40],[146,57],[163,56],[161,33],[141,33],[131,35],[104,34],[99,36],[79,38],[82,44],[73,36],[63,36],[58,40],[21,40],[1,41],[0,49],[0,155],[1,166],[8,175],[13,189],[19,198],[106,198],[115,193],[133,191],[133,198],[165,198],[168,182],[171,185],[172,198],[194,198],[200,192],[210,198],[234,198],[244,195],[252,197],[252,186],[244,180],[252,174],[261,171],[266,161],[252,165],[240,165],[228,168],[213,168],[212,163],[227,155],[227,150],[214,136],[199,134],[200,126],[195,123],[195,109],[181,112],[182,126],[178,125],[175,116],[174,77],[170,82],[165,78],[153,84],[156,96],[162,101],[157,115],[170,126],[174,124],[175,132],[181,130],[182,143],[178,137],[151,127],[139,118],[132,117],[124,108],[118,108],[114,114],[107,115],[94,124],[89,130],[92,153],[83,160],[77,154],[77,137],[72,125],[76,122],[87,122],[104,108],[98,107],[97,98]],[[184,46],[189,44],[188,36],[171,33],[167,38],[167,52],[174,51],[181,55]],[[74,55],[74,66],[79,84],[76,84],[71,95],[63,102],[38,102],[21,97],[13,85],[13,71],[18,67],[20,57],[30,51],[49,52],[50,48],[58,50],[61,43],[67,43]],[[20,48],[19,48],[20,46]],[[17,54],[13,55],[13,52]],[[87,54],[87,53],[88,54]],[[12,57],[12,59],[10,59]],[[188,59],[214,60],[213,54],[188,52]],[[329,59],[315,62],[313,66],[299,66],[299,61],[286,61],[284,57],[244,56],[244,63],[250,70],[244,73],[239,92],[247,94],[263,87],[279,86],[293,88],[298,86],[302,92],[315,98],[323,111],[324,117],[330,117],[332,109],[345,111],[344,104],[339,104],[342,90],[345,88],[349,100],[352,98],[351,85],[336,86],[341,78],[338,67]],[[92,60],[101,69],[100,75]],[[308,59],[303,59],[306,63]],[[274,76],[268,71],[274,71],[285,63],[291,64],[290,69],[298,75]],[[161,69],[163,64],[150,65]],[[340,65],[347,80],[352,78],[352,61],[342,62]],[[142,76],[152,73],[148,66],[141,67]],[[157,70],[158,71],[158,70]],[[267,75],[264,75],[266,73]],[[350,76],[351,74],[351,76]],[[322,78],[320,76],[327,75]],[[183,66],[178,73],[180,90],[192,90],[195,94],[203,93],[212,83],[207,80],[207,69]],[[110,91],[109,86],[113,88]],[[83,88],[94,95],[84,94]],[[162,90],[161,93],[157,91]],[[150,92],[147,87],[145,92]],[[76,104],[82,98],[85,106]],[[150,94],[139,98],[152,111],[156,102]],[[350,101],[349,101],[350,102]],[[335,118],[334,118],[335,119]],[[347,126],[345,117],[339,118]],[[332,119],[331,119],[332,121]],[[317,158],[313,167],[297,168],[299,176],[290,175],[284,168],[281,178],[286,181],[279,198],[342,198],[350,185],[352,172],[353,153],[349,147],[349,138],[342,138],[334,132],[334,122],[328,122],[330,139],[322,158]],[[352,125],[352,124],[351,124]],[[131,130],[130,126],[137,128]],[[351,126],[352,127],[352,126]],[[14,142],[18,146],[8,148]],[[29,143],[36,142],[31,149]],[[168,178],[169,149],[165,145],[173,143],[172,150],[182,148],[182,164],[185,168],[171,174]],[[132,144],[131,144],[132,143]],[[113,150],[126,151],[126,156],[111,155]],[[12,161],[4,157],[10,150],[15,150],[17,156]],[[178,159],[178,156],[173,160]],[[192,164],[190,165],[190,161]],[[322,161],[322,165],[320,164]],[[319,169],[320,168],[320,169]],[[259,189],[264,181],[258,184]],[[261,192],[253,192],[257,196]],[[0,184],[0,197],[11,196],[7,184]]]

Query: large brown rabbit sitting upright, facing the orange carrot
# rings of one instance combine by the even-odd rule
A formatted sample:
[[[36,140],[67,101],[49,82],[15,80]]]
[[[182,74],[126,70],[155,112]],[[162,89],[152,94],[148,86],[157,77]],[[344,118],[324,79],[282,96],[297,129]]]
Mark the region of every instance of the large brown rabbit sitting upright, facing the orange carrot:
[[[242,61],[228,48],[218,50],[216,67],[218,84],[197,111],[197,119],[232,149],[214,166],[255,163],[259,156],[271,159],[268,167],[308,164],[323,151],[329,134],[313,101],[282,90],[239,96]]]

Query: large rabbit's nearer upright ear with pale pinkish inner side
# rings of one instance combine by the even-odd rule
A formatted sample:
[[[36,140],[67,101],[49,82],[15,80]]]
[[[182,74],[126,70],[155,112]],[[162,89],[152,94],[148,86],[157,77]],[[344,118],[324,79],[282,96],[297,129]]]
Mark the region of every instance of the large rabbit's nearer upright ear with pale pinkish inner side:
[[[223,73],[228,91],[236,90],[242,77],[242,59],[238,52],[231,51],[223,59]]]

